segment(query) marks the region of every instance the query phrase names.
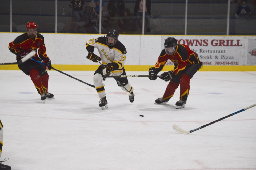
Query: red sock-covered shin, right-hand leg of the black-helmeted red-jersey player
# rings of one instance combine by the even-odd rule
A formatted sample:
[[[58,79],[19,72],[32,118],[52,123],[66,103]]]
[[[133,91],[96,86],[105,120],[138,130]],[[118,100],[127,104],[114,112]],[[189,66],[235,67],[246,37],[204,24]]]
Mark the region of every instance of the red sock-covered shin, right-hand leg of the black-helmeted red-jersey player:
[[[183,74],[181,76],[181,80],[180,80],[180,100],[182,101],[186,101],[187,97],[189,95],[189,89],[190,89],[190,77],[186,74]]]

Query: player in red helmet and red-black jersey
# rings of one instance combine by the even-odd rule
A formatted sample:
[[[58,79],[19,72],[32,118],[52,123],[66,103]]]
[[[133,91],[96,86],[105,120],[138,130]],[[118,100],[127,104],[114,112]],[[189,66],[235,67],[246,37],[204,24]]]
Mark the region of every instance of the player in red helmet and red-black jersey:
[[[19,61],[31,51],[37,52],[33,58],[38,61],[43,61],[41,65],[33,60],[18,65],[19,69],[26,75],[29,75],[34,83],[41,100],[45,101],[47,98],[53,98],[53,94],[48,92],[49,75],[46,69],[51,70],[51,60],[46,54],[46,48],[43,35],[37,33],[37,24],[28,22],[26,25],[27,33],[19,35],[14,41],[9,43],[9,50],[16,55],[16,60]]]

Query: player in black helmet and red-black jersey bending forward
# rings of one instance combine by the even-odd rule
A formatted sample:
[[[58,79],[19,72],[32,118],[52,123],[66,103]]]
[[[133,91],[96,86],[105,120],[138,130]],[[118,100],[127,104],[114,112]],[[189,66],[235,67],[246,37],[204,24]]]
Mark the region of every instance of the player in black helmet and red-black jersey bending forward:
[[[175,38],[168,37],[155,67],[149,69],[150,80],[157,78],[157,73],[163,69],[168,59],[174,63],[174,69],[160,75],[160,79],[170,82],[163,97],[156,99],[155,104],[167,103],[180,85],[180,100],[176,102],[176,109],[184,108],[189,95],[190,79],[202,67],[202,63],[197,53],[190,50],[189,46],[178,44]]]

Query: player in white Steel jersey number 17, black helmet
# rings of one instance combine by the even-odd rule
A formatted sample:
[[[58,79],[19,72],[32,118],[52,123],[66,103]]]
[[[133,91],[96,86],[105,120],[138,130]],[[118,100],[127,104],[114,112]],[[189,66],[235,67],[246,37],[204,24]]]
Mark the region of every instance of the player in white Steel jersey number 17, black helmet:
[[[98,37],[97,39],[90,39],[86,42],[86,50],[88,51],[88,56],[86,58],[93,62],[101,61],[104,66],[99,66],[93,76],[95,89],[101,98],[99,106],[102,110],[108,108],[103,80],[105,80],[107,75],[126,75],[124,63],[127,57],[127,52],[125,46],[118,41],[118,36],[118,31],[116,29],[111,29],[106,37]],[[100,57],[94,54],[94,48],[98,49]],[[130,102],[133,102],[133,87],[128,82],[128,79],[117,78],[117,80],[122,83],[130,94],[132,94],[129,95],[129,100]],[[117,85],[120,86],[122,90],[126,91],[118,82]]]

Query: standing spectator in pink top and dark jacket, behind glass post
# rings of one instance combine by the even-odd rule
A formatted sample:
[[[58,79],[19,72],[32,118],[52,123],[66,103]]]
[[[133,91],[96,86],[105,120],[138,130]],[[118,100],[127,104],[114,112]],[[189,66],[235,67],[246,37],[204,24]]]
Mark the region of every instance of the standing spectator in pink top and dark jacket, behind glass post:
[[[143,0],[136,1],[133,14],[137,16],[139,28],[142,31]],[[145,22],[147,24],[147,32],[151,32],[149,27],[149,15],[151,15],[151,0],[145,0]]]

